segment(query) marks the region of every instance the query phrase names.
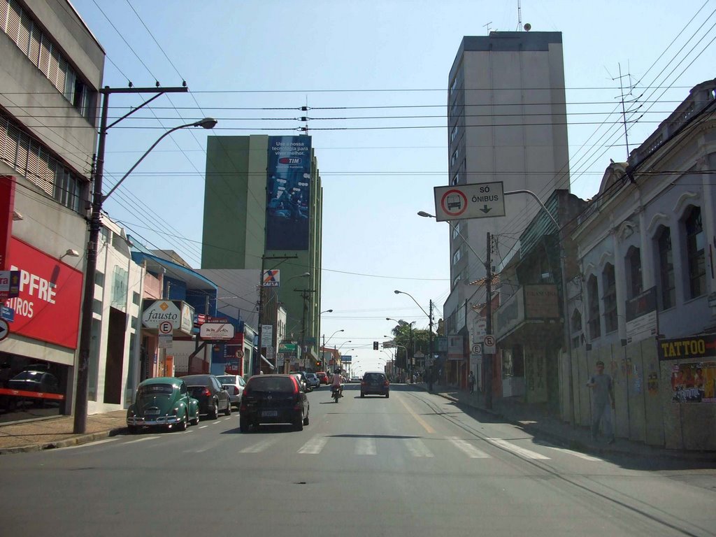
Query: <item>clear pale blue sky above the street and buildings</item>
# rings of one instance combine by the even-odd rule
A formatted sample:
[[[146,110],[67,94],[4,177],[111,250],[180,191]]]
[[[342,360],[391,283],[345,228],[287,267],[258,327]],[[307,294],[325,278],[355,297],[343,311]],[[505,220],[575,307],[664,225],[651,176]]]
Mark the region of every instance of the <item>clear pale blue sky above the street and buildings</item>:
[[[520,21],[562,32],[570,188],[584,199],[610,159],[626,160],[621,95],[633,150],[715,75],[716,0],[523,0],[519,13],[516,0],[72,5],[105,49],[104,85],[190,89],[112,127],[105,193],[166,130],[218,119],[165,138],[105,202],[149,248],[200,267],[207,135],[297,135],[309,117],[324,189],[321,311],[333,310],[321,333],[356,373],[390,359],[372,350],[395,326],[386,317],[427,329],[422,310],[432,301],[441,319],[450,293],[448,223],[417,211],[434,214],[433,188],[448,184],[448,74],[463,36]],[[110,117],[149,97],[112,95]]]

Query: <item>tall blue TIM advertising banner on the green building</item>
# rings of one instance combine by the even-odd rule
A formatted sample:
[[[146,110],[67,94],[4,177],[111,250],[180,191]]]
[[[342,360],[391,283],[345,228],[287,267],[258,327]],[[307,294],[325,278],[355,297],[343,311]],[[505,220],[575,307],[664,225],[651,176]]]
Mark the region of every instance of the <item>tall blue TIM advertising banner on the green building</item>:
[[[269,136],[266,250],[309,249],[311,137]]]

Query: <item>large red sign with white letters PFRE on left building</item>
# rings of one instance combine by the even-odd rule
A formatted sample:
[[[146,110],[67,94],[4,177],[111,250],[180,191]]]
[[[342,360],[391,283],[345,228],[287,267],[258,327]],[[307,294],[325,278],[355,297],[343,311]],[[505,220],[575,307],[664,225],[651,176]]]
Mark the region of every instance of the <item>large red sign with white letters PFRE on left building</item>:
[[[5,301],[15,310],[12,334],[77,348],[82,272],[12,237],[8,268],[20,271],[20,294]]]

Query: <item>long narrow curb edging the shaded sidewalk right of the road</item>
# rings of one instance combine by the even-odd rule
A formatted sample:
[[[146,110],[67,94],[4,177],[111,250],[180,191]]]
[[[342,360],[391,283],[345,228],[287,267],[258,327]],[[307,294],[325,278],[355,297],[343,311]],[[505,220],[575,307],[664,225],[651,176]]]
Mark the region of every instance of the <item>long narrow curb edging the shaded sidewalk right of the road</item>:
[[[428,392],[427,388],[424,388],[426,392]],[[557,432],[553,432],[550,430],[543,429],[536,425],[525,425],[518,420],[515,420],[512,417],[505,416],[501,412],[498,412],[496,410],[489,410],[482,407],[477,407],[475,405],[470,404],[466,401],[460,401],[458,397],[453,397],[451,395],[436,392],[433,390],[432,393],[434,395],[439,395],[443,399],[447,399],[449,401],[456,402],[460,405],[465,405],[467,407],[470,407],[472,409],[478,410],[478,412],[485,412],[487,414],[493,415],[495,417],[499,417],[501,420],[505,420],[505,422],[510,423],[511,425],[515,425],[516,427],[520,427],[522,430],[534,434],[541,435],[543,437],[547,437],[549,440],[552,440],[553,442],[556,442],[558,444],[561,444],[564,447],[567,447],[571,450],[579,451],[581,453],[587,453],[589,455],[627,455],[629,457],[642,457],[642,458],[660,458],[660,459],[667,459],[667,460],[692,460],[697,462],[705,462],[705,463],[713,463],[716,462],[716,453],[710,453],[710,452],[699,452],[699,453],[684,453],[682,451],[669,451],[669,450],[658,450],[654,449],[651,453],[638,453],[634,452],[632,450],[624,450],[619,448],[606,448],[606,447],[594,447],[592,445],[586,444],[582,442],[581,440],[576,440],[574,438],[566,437],[563,435],[560,435]]]

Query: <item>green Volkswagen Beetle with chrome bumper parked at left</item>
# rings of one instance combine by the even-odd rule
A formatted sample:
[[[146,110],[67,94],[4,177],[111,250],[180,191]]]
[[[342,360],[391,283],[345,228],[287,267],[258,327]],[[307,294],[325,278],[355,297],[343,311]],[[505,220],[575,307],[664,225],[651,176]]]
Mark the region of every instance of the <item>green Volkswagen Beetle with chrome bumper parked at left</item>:
[[[134,405],[127,409],[127,429],[167,427],[186,430],[199,422],[199,402],[190,397],[186,384],[175,377],[146,379],[137,387]]]

